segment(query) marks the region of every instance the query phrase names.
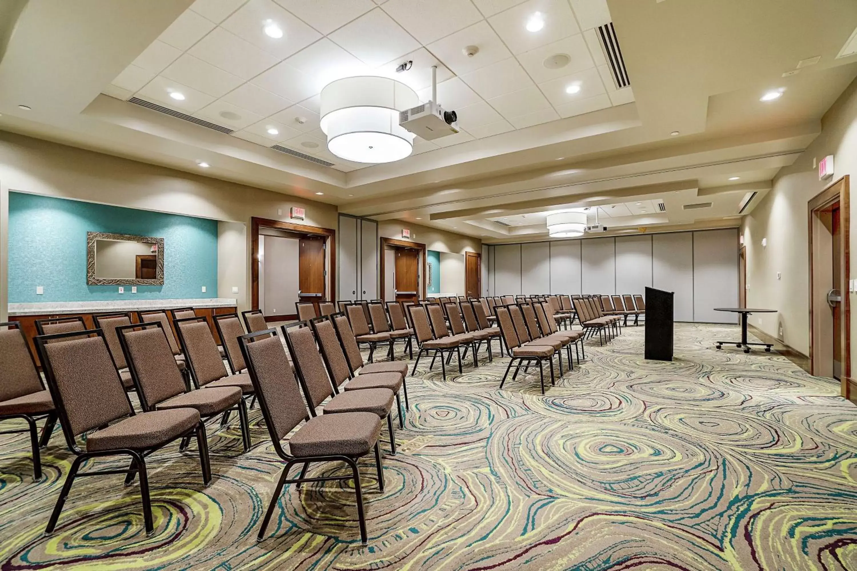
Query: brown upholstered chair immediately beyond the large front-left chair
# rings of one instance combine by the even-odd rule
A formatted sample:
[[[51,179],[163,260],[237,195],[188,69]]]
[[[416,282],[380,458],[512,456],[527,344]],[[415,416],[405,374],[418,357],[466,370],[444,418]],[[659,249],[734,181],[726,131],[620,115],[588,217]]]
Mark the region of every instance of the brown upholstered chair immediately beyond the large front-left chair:
[[[211,419],[221,413],[225,416],[227,411],[237,409],[244,452],[250,449],[247,408],[241,397],[241,389],[218,387],[189,390],[184,384],[182,374],[172,366],[170,343],[166,340],[164,325],[157,321],[119,327],[117,338],[144,412],[187,407],[199,411],[202,419]],[[238,348],[238,353],[243,362],[241,348]],[[181,449],[187,444],[188,441],[183,440]]]

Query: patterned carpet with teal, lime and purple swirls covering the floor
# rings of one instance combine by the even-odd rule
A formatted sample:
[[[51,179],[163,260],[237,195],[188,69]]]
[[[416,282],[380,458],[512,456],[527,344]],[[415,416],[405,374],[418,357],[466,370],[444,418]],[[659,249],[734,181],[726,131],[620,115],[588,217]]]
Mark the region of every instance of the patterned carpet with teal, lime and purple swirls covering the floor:
[[[365,547],[333,482],[287,487],[255,542],[279,475],[258,408],[248,454],[237,428],[210,429],[208,488],[195,445],[151,457],[151,538],[120,476],[76,483],[44,537],[63,438],[33,483],[27,438],[0,437],[0,569],[857,570],[857,407],[838,384],[716,351],[734,326],[678,324],[672,363],[625,331],[545,396],[537,372],[498,390],[506,360],[446,381],[421,363],[383,494],[363,461]]]

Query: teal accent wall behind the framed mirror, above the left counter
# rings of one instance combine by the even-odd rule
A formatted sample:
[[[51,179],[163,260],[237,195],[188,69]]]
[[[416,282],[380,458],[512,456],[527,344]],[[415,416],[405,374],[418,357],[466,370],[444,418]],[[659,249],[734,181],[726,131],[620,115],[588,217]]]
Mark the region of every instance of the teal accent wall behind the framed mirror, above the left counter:
[[[87,285],[87,232],[164,238],[164,285],[136,294]],[[9,303],[208,297],[217,297],[216,220],[9,193]]]

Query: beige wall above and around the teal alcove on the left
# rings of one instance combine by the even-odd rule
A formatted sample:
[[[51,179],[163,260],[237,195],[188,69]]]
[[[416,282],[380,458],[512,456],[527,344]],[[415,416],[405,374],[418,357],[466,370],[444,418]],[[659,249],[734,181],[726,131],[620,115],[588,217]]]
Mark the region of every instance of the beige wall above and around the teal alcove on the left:
[[[0,132],[0,320],[6,318],[8,304],[9,191],[212,218],[248,227],[251,217],[287,221],[291,206],[303,206],[304,224],[337,227],[337,209],[333,205]],[[229,238],[229,256],[239,255],[234,239],[235,236]],[[224,243],[219,240],[219,246]],[[228,287],[226,291],[240,284],[239,294],[226,297],[238,297],[242,308],[249,305],[249,295],[243,295],[250,286],[246,229],[244,244],[238,263],[231,259],[226,269],[218,272],[219,283]],[[224,258],[219,255],[219,260]],[[219,286],[219,294],[222,293]]]

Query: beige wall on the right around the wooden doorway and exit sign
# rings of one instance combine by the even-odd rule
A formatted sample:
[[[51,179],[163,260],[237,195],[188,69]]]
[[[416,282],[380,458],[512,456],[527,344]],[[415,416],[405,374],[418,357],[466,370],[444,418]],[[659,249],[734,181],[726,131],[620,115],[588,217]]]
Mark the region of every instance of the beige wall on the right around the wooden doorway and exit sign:
[[[835,173],[818,180],[813,158],[834,155]],[[857,175],[857,81],[848,86],[822,119],[822,132],[793,165],[780,170],[774,187],[741,225],[747,253],[747,306],[776,309],[756,314],[750,323],[803,354],[809,354],[809,253],[807,202],[844,175]],[[852,193],[854,182],[851,181]],[[854,220],[854,194],[851,219]],[[762,239],[767,246],[762,247]],[[852,226],[851,252],[857,240]],[[851,262],[854,268],[854,261]],[[782,277],[777,279],[776,273]],[[848,279],[852,278],[852,273]],[[851,303],[854,304],[854,294]],[[855,312],[852,312],[857,318]],[[852,325],[854,320],[852,320]],[[857,342],[852,342],[854,363]]]

